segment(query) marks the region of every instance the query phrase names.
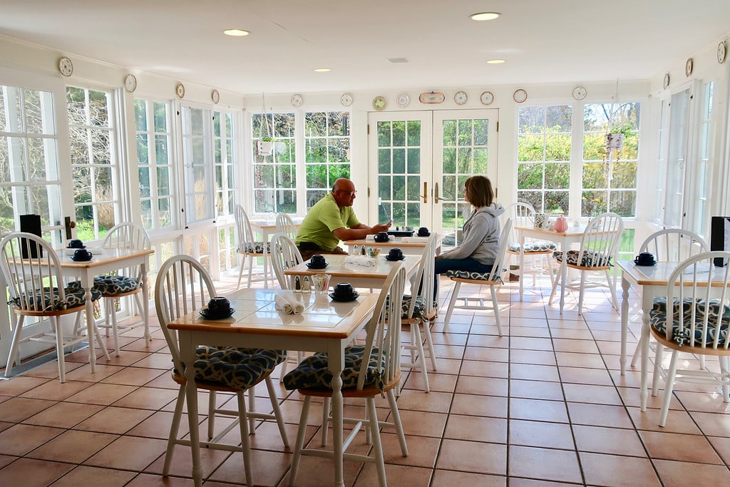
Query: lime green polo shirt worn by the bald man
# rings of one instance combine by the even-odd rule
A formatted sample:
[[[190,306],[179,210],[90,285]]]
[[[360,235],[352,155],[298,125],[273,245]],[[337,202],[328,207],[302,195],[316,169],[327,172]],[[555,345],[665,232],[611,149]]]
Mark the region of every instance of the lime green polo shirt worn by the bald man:
[[[328,251],[339,245],[339,238],[332,232],[337,229],[358,226],[360,221],[355,216],[353,207],[340,208],[332,193],[327,193],[307,212],[296,234],[296,245],[301,242],[312,242]]]

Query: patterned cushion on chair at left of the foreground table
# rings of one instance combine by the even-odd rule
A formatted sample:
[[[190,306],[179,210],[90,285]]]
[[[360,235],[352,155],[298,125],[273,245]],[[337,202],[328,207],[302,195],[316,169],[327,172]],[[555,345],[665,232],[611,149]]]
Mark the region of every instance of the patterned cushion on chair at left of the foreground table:
[[[200,346],[193,367],[196,380],[243,391],[285,360],[285,350]]]

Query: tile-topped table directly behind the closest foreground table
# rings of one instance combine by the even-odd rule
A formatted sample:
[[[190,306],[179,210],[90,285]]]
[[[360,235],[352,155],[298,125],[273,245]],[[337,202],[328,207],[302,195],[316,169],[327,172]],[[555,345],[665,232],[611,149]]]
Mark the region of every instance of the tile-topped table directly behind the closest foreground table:
[[[389,261],[383,253],[380,256],[368,258],[374,263],[373,266],[364,266],[355,264],[351,261],[353,258],[360,256],[347,256],[345,254],[323,254],[327,261],[327,266],[323,269],[312,269],[308,264],[310,261],[301,262],[284,271],[285,275],[309,277],[315,274],[327,274],[330,276],[330,285],[339,283],[350,283],[353,288],[380,288],[385,282],[385,278],[390,274],[393,265],[399,261]],[[404,255],[402,262],[406,269],[406,275],[412,275],[420,263],[420,254]]]

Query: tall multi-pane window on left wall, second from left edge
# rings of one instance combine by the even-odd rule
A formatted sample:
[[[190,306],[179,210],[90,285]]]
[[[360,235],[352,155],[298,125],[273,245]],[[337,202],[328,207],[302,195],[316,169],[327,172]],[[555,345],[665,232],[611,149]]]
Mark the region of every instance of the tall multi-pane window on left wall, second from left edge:
[[[100,239],[118,223],[120,204],[113,94],[66,87],[74,207],[80,239]]]

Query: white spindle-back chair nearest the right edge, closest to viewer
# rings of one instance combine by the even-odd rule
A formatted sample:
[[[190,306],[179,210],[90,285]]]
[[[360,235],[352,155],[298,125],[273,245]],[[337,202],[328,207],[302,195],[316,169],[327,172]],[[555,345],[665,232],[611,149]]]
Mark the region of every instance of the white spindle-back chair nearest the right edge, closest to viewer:
[[[688,382],[721,387],[730,402],[730,266],[715,267],[714,258],[730,258],[730,252],[703,252],[683,261],[669,277],[666,298],[655,298],[650,312],[650,333],[656,339],[652,395],[658,379],[665,382],[659,426],[664,426],[675,383]],[[664,367],[664,348],[672,350]],[[716,356],[720,371],[680,369],[679,354]],[[685,360],[681,361],[685,364]],[[713,389],[710,389],[714,393]]]

